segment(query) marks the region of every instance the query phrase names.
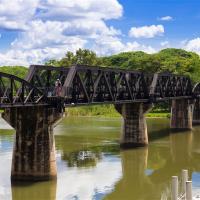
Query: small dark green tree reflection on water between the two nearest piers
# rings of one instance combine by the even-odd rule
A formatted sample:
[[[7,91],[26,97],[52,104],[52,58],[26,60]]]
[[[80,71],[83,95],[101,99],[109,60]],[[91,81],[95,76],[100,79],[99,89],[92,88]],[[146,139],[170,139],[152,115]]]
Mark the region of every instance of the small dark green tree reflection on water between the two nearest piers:
[[[118,154],[117,145],[88,147],[74,152],[62,152],[62,160],[69,167],[95,167],[104,154]]]

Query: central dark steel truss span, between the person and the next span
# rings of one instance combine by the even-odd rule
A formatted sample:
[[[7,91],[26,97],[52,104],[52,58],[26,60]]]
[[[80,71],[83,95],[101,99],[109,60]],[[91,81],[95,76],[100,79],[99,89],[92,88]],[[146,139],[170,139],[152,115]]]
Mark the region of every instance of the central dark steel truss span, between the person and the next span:
[[[139,71],[73,66],[63,85],[67,104],[146,102],[153,76]]]

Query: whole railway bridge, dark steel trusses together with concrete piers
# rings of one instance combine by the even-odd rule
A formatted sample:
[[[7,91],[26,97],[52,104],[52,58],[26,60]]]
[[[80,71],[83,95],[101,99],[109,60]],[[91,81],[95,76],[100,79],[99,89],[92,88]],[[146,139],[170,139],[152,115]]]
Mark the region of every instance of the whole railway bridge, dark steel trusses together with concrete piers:
[[[55,95],[55,81],[62,91]],[[55,178],[53,128],[64,107],[114,104],[123,117],[120,145],[148,144],[145,120],[158,102],[171,102],[171,128],[192,129],[200,123],[200,84],[170,73],[75,65],[32,65],[25,79],[0,72],[2,117],[16,130],[12,180]]]

